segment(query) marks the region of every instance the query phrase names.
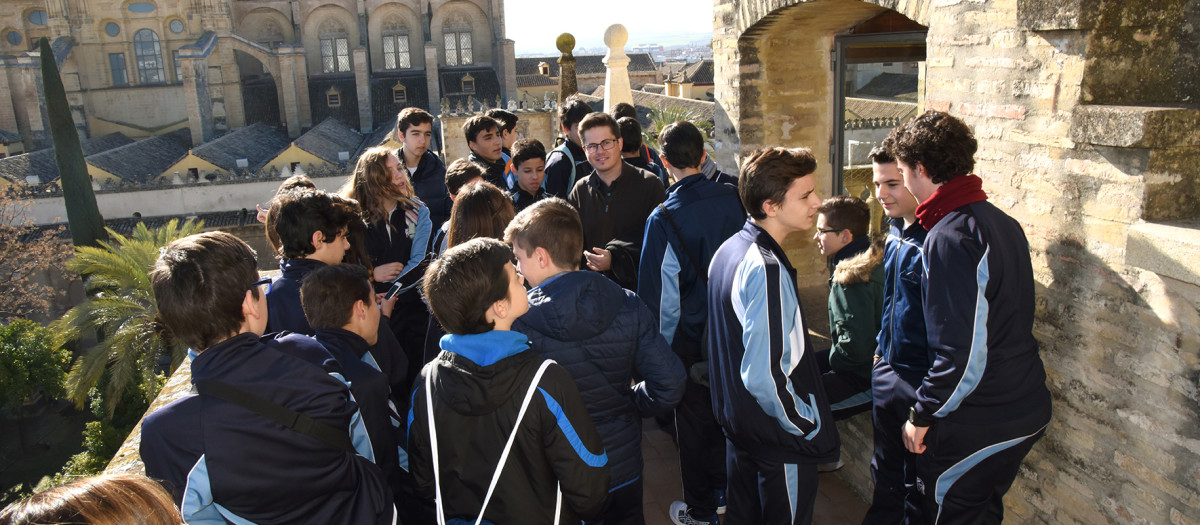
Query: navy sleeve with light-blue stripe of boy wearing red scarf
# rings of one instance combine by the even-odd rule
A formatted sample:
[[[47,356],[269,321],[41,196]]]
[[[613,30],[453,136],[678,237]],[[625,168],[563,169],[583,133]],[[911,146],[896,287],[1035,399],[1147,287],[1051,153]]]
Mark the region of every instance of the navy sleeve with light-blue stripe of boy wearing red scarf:
[[[946,417],[979,386],[988,363],[988,253],[974,235],[930,235],[922,295],[934,364],[917,390],[917,415]]]

